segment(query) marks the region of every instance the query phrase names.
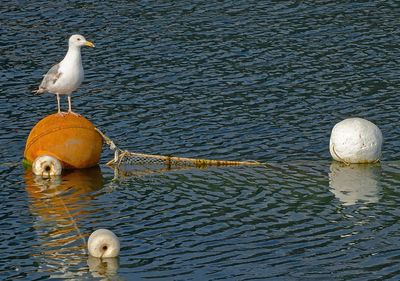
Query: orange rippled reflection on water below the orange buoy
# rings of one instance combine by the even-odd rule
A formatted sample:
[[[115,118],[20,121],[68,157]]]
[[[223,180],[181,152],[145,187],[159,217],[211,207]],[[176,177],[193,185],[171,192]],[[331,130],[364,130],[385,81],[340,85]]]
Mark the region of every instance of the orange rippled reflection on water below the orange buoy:
[[[87,237],[81,223],[88,210],[103,210],[93,200],[104,186],[100,167],[66,170],[62,176],[48,178],[27,169],[24,181],[41,268],[71,277],[78,274],[79,266],[79,272],[87,273]]]

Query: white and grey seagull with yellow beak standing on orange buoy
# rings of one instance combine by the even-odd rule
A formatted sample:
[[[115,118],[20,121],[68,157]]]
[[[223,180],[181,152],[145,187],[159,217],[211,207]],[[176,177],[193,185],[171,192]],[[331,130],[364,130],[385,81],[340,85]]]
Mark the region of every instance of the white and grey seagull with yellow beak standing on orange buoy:
[[[81,60],[81,47],[94,47],[92,42],[86,41],[82,35],[72,35],[68,42],[68,52],[64,59],[54,65],[44,75],[37,94],[49,92],[57,95],[58,114],[63,115],[60,109],[60,95],[68,95],[68,113],[71,109],[71,93],[78,89],[83,81],[83,67]]]

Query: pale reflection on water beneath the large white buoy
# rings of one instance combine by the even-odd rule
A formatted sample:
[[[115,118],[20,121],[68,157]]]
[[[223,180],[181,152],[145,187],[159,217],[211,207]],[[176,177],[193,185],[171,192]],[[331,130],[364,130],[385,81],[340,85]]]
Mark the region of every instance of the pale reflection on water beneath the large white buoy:
[[[329,173],[330,191],[345,206],[357,202],[376,203],[380,197],[381,166],[332,162]]]

